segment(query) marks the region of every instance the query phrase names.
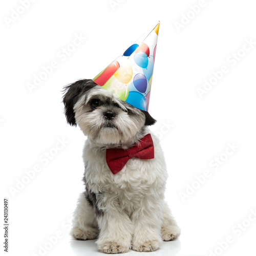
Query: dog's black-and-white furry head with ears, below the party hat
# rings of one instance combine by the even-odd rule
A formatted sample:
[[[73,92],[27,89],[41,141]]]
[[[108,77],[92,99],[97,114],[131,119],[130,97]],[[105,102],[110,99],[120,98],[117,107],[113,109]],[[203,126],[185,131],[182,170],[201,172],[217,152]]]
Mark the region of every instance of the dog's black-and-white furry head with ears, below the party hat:
[[[78,124],[84,135],[100,144],[129,143],[156,120],[119,99],[91,79],[78,80],[64,89],[67,121]]]

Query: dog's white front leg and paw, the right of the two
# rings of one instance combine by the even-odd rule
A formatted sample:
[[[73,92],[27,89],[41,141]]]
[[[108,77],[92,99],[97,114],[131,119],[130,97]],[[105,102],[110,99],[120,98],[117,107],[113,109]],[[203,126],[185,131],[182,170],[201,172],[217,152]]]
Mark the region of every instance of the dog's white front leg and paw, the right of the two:
[[[134,225],[133,250],[155,251],[162,242],[162,202],[144,197],[141,205],[131,218]]]

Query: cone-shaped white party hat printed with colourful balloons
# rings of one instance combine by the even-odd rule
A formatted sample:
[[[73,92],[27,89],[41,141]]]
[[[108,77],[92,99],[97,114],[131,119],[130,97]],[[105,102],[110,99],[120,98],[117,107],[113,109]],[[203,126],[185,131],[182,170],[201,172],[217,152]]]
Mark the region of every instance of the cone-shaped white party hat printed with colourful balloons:
[[[102,70],[93,81],[118,98],[148,111],[160,22]]]

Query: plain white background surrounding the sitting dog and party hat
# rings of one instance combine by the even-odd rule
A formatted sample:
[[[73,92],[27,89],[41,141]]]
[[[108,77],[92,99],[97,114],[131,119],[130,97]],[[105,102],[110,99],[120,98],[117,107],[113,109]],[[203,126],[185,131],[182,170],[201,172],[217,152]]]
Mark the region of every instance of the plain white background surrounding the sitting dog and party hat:
[[[95,241],[69,242],[70,218],[83,190],[86,138],[66,123],[61,90],[77,79],[93,78],[158,20],[150,113],[158,120],[152,130],[161,139],[169,172],[166,200],[182,235],[150,255],[209,255],[210,250],[216,255],[254,255],[254,2],[114,2],[37,0],[16,16],[15,10],[23,11],[19,1],[2,3],[0,167],[2,199],[9,199],[9,255],[42,255],[41,246],[47,247],[45,255],[101,254]],[[199,4],[203,7],[191,11]],[[16,19],[10,22],[12,16]],[[87,38],[72,48],[79,34]],[[251,49],[245,46],[247,52],[241,50],[246,40],[254,42]],[[67,47],[72,52],[63,56]],[[232,60],[238,52],[240,60]],[[30,91],[28,83],[52,61],[57,67]],[[198,88],[222,66],[228,72],[201,98]],[[44,154],[56,153],[53,148],[62,138],[67,144],[46,162]],[[230,156],[225,155],[228,143],[239,147]],[[210,162],[220,156],[225,161],[215,170]],[[24,178],[35,165],[40,172],[31,180]],[[201,177],[203,184],[198,185],[195,176],[205,170],[211,176]],[[27,184],[11,193],[22,180]],[[198,188],[182,200],[189,185]],[[58,241],[49,244],[48,237],[56,233]],[[232,243],[226,245],[222,242],[228,236]],[[218,243],[227,248],[218,249]]]

